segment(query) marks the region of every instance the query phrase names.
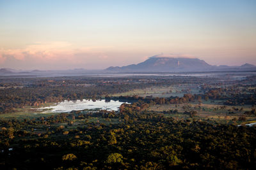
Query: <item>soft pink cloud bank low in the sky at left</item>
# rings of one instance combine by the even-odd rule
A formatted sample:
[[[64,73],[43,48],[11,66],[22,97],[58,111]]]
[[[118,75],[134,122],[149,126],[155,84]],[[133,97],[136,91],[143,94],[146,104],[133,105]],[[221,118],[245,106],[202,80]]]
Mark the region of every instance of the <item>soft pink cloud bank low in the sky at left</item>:
[[[0,67],[69,69],[108,59],[100,46],[77,48],[66,41],[36,42],[25,48],[0,48]]]

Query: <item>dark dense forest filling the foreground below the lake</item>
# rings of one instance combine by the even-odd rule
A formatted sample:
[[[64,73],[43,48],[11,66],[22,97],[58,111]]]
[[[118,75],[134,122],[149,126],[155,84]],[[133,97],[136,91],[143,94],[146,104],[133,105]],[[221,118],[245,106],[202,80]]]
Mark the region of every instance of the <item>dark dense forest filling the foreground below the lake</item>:
[[[122,104],[120,113],[2,120],[0,168],[255,169],[255,127],[177,120],[147,107],[137,102]]]

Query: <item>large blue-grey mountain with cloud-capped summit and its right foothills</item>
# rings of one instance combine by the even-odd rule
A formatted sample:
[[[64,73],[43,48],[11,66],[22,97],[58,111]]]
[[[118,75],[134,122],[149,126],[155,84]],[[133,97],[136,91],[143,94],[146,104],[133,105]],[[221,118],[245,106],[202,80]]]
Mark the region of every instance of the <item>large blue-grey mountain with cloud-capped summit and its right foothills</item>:
[[[204,60],[173,56],[154,55],[139,64],[131,64],[123,67],[108,67],[106,71],[111,72],[196,72],[196,71],[256,71],[256,66],[243,64],[242,66],[212,66]]]

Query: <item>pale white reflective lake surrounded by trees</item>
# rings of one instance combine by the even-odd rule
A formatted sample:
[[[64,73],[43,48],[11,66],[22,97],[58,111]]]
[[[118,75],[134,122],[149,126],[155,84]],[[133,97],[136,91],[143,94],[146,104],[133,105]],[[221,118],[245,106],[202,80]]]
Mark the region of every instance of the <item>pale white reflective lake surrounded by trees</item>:
[[[63,112],[70,112],[72,110],[93,110],[93,109],[100,109],[100,110],[109,110],[109,111],[118,111],[121,104],[124,102],[120,101],[109,101],[106,102],[105,100],[86,100],[83,101],[63,101],[60,103],[56,103],[54,106],[48,106],[44,108],[39,108],[38,110],[45,112],[52,112],[52,113],[63,113]]]

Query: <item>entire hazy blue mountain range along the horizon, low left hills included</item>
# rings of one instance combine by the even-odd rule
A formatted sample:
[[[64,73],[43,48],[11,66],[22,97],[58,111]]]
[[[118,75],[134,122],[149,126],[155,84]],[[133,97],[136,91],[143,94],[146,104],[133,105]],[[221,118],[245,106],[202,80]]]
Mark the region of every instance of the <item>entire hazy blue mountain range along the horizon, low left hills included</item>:
[[[0,68],[0,74],[88,74],[88,73],[124,73],[124,72],[140,72],[140,73],[189,73],[189,72],[209,72],[209,71],[256,71],[256,66],[245,63],[241,66],[212,66],[204,60],[189,55],[154,55],[147,60],[138,64],[130,64],[127,66],[108,67],[106,69],[90,70],[90,69],[63,69],[63,70],[17,70],[10,68]]]

